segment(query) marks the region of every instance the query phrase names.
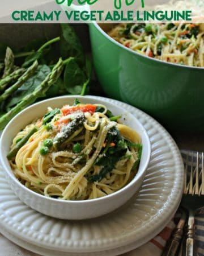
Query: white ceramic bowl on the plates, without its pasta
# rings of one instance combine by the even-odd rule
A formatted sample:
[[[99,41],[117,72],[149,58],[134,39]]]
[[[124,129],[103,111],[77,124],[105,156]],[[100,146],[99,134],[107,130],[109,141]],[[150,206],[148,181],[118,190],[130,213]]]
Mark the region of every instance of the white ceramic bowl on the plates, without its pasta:
[[[134,179],[124,188],[113,193],[112,195],[101,197],[99,199],[63,201],[42,196],[26,188],[14,176],[6,155],[10,150],[12,139],[21,129],[31,123],[33,119],[42,117],[46,113],[49,106],[52,108],[60,108],[65,104],[72,105],[76,97],[82,103],[104,104],[115,115],[120,115],[122,113],[122,118],[124,118],[124,120],[122,120],[123,123],[132,127],[141,136],[143,150],[137,175],[135,175]],[[15,192],[20,200],[22,200],[29,207],[48,216],[67,220],[82,220],[86,218],[99,217],[103,214],[112,212],[114,209],[117,209],[122,204],[126,203],[126,201],[128,201],[130,197],[134,195],[134,193],[141,186],[145,177],[147,166],[150,161],[151,144],[146,130],[141,123],[132,114],[126,112],[125,109],[113,105],[111,100],[110,103],[107,103],[106,101],[103,101],[103,98],[101,99],[92,96],[63,96],[41,101],[37,104],[29,106],[27,109],[16,115],[3,130],[0,141],[0,152],[0,159],[7,181],[10,183],[11,189]]]

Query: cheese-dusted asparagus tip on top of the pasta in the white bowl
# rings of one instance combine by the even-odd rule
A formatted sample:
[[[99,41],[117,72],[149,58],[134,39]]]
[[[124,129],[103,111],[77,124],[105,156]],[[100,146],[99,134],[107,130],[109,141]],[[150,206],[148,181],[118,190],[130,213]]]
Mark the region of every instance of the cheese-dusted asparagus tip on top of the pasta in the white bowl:
[[[83,113],[76,113],[75,118],[69,122],[67,125],[63,126],[60,132],[54,137],[53,144],[54,147],[59,150],[63,148],[69,140],[70,136],[76,131],[80,131],[83,127],[83,122],[85,121]]]

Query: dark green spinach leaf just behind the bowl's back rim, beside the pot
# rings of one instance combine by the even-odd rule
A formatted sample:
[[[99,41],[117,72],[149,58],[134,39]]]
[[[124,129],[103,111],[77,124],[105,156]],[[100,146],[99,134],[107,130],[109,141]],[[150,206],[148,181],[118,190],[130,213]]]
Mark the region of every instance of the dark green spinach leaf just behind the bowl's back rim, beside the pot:
[[[86,81],[86,73],[79,67],[75,58],[71,57],[66,64],[64,72],[64,82],[67,92],[71,94],[80,94]]]

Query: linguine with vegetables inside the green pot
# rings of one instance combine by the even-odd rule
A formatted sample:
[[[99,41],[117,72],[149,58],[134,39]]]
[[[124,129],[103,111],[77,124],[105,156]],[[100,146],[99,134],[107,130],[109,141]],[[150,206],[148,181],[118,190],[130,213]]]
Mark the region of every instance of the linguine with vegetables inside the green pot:
[[[170,1],[167,5],[156,7],[156,10],[162,9],[192,10],[194,24],[124,23],[114,26],[108,35],[143,55],[181,65],[204,67],[203,1]]]

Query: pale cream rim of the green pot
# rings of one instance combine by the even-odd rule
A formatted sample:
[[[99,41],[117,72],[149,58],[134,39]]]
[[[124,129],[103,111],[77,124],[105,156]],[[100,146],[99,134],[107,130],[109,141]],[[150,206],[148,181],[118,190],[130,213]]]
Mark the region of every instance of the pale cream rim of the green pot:
[[[113,23],[113,24],[117,24],[117,23]],[[187,68],[187,69],[196,69],[196,70],[203,70],[204,71],[204,67],[194,67],[194,66],[188,66],[188,65],[181,65],[181,64],[177,64],[177,63],[171,63],[171,62],[167,62],[167,61],[163,61],[163,60],[158,60],[158,59],[155,59],[155,58],[151,58],[151,57],[148,57],[146,55],[143,55],[139,52],[136,52],[136,51],[133,51],[133,49],[130,49],[128,47],[125,47],[123,44],[121,43],[118,43],[116,40],[114,40],[111,36],[109,36],[107,34],[107,32],[105,32],[97,22],[92,22],[90,23],[90,26],[94,25],[97,30],[99,30],[101,32],[101,34],[103,36],[105,36],[105,38],[108,38],[113,44],[116,44],[116,46],[122,48],[122,49],[125,49],[126,51],[130,52],[130,53],[133,53],[135,55],[138,55],[139,57],[145,57],[146,59],[148,60],[151,60],[151,61],[156,61],[156,62],[159,62],[159,63],[162,63],[162,64],[166,64],[166,65],[172,65],[172,66],[175,66],[175,67],[178,67],[178,68]]]

